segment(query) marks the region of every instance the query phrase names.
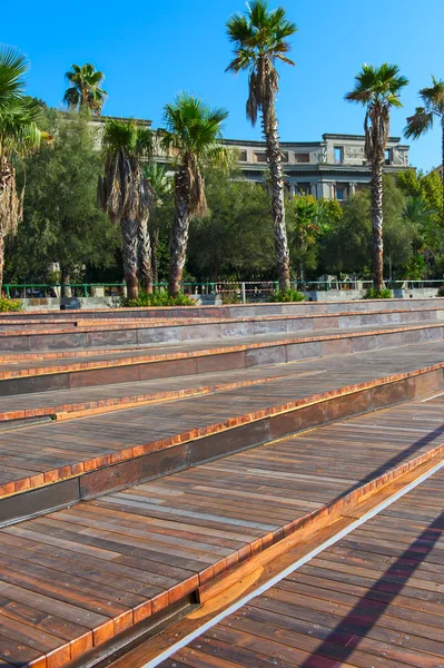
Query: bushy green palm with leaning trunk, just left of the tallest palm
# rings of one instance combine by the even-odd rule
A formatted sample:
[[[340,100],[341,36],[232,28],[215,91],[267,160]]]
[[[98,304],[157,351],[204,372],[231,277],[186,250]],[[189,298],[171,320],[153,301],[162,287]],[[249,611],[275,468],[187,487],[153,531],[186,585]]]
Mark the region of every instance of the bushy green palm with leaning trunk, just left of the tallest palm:
[[[169,294],[177,296],[188,244],[189,222],[207,210],[203,168],[206,165],[227,167],[229,154],[219,144],[226,109],[211,109],[203,100],[181,92],[165,106],[160,146],[175,158],[175,217],[169,255]]]

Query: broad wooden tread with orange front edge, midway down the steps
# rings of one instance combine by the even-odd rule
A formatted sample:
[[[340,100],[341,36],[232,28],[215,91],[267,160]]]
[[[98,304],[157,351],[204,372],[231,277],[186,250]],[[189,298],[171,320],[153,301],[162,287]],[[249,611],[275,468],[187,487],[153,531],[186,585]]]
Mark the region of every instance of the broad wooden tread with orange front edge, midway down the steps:
[[[442,356],[444,343],[436,342],[423,344],[421,347],[412,345],[389,352],[378,351],[306,361],[295,365],[297,375],[288,377],[285,376],[290,371],[290,365],[276,366],[282,375],[277,381],[250,386],[240,384],[234,390],[146,405],[128,412],[4,432],[0,434],[0,493],[4,495],[33,489],[67,477],[98,470],[112,462],[139,456],[171,443],[224,431],[236,424],[248,423],[254,416],[273,414],[275,407],[276,411],[285,410],[290,402],[309,403],[315,397],[336,395],[338,390],[346,386],[353,385],[358,389],[366,383],[378,382],[378,379],[388,374],[396,377],[414,369],[427,366]],[[268,372],[255,370],[248,374],[240,373],[247,381],[257,380]],[[274,374],[275,371],[269,370],[269,373]],[[225,382],[235,382],[239,380],[239,373],[220,372],[218,377]],[[213,379],[216,380],[215,376]],[[168,380],[166,385],[172,387],[175,383],[179,382]],[[151,387],[154,385],[157,391],[161,389],[160,382],[152,381]],[[425,385],[423,392],[426,391]],[[111,396],[116,392],[116,387],[110,389]],[[63,394],[67,395],[70,393]],[[80,397],[79,393],[77,399],[81,406]],[[30,400],[27,395],[23,401],[28,399]],[[387,399],[382,392],[378,405],[384,405]],[[396,399],[394,396],[394,400]],[[397,401],[402,399],[399,395]],[[28,415],[32,414],[32,410],[34,409],[29,409]],[[362,410],[368,410],[368,406]],[[326,419],[328,416],[323,418],[324,421]],[[273,435],[272,433],[270,438]]]

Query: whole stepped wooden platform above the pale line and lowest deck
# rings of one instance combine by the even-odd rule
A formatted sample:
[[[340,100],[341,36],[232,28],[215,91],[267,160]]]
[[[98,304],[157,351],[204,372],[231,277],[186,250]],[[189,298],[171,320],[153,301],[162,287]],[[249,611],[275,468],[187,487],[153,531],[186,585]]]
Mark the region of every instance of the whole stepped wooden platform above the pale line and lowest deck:
[[[0,666],[105,668],[441,461],[443,304],[0,316]]]

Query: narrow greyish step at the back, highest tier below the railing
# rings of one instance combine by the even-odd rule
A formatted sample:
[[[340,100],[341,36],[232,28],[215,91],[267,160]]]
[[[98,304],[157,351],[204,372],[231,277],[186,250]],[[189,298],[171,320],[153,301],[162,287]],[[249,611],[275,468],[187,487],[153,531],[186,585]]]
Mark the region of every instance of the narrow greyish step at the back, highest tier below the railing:
[[[51,350],[83,350],[116,346],[147,346],[158,343],[188,343],[196,340],[306,333],[314,331],[351,331],[365,326],[414,326],[430,323],[442,325],[444,308],[428,307],[385,308],[336,313],[300,313],[236,317],[176,317],[175,320],[90,320],[36,324],[27,318],[0,318],[0,353],[41,353]],[[227,314],[225,314],[227,315]],[[6,324],[4,324],[6,323]]]

